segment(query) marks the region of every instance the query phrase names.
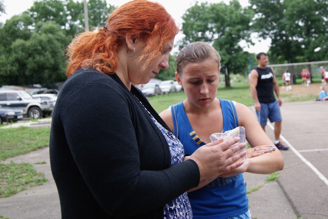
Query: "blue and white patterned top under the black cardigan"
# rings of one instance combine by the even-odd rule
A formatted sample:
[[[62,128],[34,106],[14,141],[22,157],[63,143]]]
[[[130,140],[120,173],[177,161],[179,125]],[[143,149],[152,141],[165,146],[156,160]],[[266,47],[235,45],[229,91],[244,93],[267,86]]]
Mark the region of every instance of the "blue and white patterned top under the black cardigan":
[[[142,104],[142,103],[141,103]],[[146,107],[145,107],[146,108]],[[147,108],[146,111],[148,112]],[[149,113],[149,112],[148,112]],[[185,150],[183,149],[183,145],[181,142],[163,127],[157,120],[149,113],[150,117],[153,119],[154,123],[161,130],[163,135],[165,136],[171,151],[171,164],[176,164],[183,161],[185,156]],[[166,204],[164,207],[164,218],[192,218],[192,210],[190,206],[190,202],[188,199],[187,192],[181,194],[178,198]]]

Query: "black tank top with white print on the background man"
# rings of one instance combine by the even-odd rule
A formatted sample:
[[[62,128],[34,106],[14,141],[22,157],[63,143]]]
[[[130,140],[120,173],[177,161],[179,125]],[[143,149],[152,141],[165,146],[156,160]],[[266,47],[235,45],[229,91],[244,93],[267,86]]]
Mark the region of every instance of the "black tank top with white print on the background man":
[[[273,103],[276,98],[273,93],[273,73],[271,68],[267,67],[265,69],[255,68],[258,73],[257,79],[257,98],[260,103]]]

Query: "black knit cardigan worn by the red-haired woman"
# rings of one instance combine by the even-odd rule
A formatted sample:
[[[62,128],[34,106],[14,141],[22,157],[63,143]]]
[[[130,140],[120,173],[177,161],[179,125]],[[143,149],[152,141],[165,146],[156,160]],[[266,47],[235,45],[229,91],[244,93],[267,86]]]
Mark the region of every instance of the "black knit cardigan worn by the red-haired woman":
[[[197,164],[171,165],[165,137],[116,74],[78,70],[52,116],[50,162],[62,218],[163,218],[163,206],[199,183]]]

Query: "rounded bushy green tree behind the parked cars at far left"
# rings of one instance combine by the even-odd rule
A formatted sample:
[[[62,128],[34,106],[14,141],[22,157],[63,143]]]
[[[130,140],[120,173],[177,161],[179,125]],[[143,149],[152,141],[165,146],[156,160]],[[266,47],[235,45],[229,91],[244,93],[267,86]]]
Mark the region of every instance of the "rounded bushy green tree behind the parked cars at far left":
[[[18,24],[25,24],[23,19],[27,17],[26,14],[14,16],[4,28],[18,20]],[[18,28],[3,32],[4,28],[2,36],[11,41],[1,51],[0,84],[50,84],[65,80],[64,49],[69,40],[59,25],[47,21],[37,23],[33,31]]]

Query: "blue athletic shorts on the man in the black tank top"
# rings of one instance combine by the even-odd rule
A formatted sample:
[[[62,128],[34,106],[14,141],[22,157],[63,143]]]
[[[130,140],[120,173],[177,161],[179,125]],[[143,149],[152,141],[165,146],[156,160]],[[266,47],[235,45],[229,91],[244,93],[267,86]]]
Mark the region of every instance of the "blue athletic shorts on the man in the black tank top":
[[[270,122],[280,122],[281,114],[279,108],[279,101],[273,103],[261,103],[261,111],[256,112],[258,122],[261,126],[267,125],[268,119]]]

